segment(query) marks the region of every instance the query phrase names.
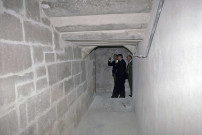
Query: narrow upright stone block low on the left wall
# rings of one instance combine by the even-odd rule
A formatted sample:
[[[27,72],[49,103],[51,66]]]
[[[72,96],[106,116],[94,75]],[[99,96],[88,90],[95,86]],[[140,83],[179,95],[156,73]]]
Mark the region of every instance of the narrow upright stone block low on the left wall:
[[[19,106],[19,112],[20,112],[20,128],[24,129],[27,126],[27,114],[26,114],[26,104],[21,104]]]

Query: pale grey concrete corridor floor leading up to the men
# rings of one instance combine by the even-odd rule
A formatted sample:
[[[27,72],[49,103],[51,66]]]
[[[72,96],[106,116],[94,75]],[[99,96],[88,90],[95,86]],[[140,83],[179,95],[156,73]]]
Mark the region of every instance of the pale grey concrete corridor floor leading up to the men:
[[[132,98],[111,99],[110,96],[109,92],[95,94],[74,135],[140,135]]]

